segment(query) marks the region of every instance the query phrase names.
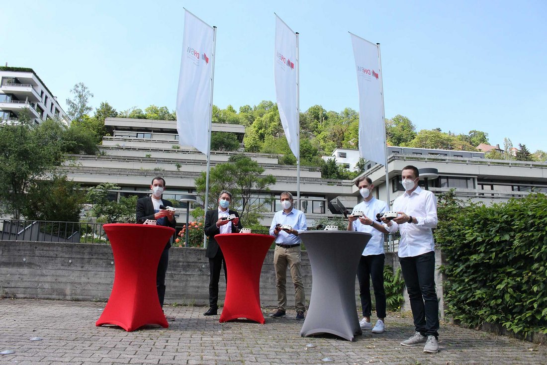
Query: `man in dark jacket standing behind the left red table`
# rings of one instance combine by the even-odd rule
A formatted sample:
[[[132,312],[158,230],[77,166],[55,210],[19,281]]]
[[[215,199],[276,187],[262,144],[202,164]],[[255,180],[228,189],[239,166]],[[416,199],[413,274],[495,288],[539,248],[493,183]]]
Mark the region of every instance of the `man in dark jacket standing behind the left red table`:
[[[166,209],[160,209],[162,206],[171,206],[168,200],[161,199],[161,195],[165,192],[165,179],[162,177],[154,177],[150,184],[152,196],[137,200],[137,223],[144,223],[147,219],[153,219],[157,225],[175,228],[177,224],[174,218],[174,212]],[[167,273],[167,263],[169,260],[170,242],[165,244],[164,252],[161,253],[160,262],[158,264],[158,273],[156,274],[156,287],[158,288],[158,298],[160,305],[164,306],[165,298],[165,273]]]

